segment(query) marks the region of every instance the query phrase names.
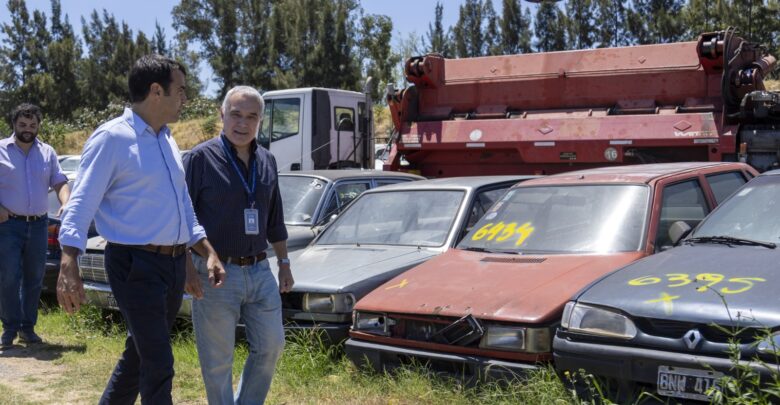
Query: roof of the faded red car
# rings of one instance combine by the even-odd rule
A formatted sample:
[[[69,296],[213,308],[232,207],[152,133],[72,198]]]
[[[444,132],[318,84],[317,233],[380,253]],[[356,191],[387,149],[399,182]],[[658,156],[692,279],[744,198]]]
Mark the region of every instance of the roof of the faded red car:
[[[677,174],[709,168],[746,169],[744,163],[734,162],[678,162],[652,163],[643,165],[607,166],[595,169],[577,170],[554,174],[523,183],[523,186],[546,184],[592,183],[650,183],[654,180]]]

